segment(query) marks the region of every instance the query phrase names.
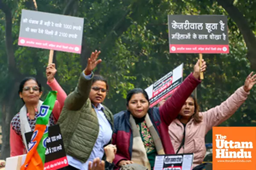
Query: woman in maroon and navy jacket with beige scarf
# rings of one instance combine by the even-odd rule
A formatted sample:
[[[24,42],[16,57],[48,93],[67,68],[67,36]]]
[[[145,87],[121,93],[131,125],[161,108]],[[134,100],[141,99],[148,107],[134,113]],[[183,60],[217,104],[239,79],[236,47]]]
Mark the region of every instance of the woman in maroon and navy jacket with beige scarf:
[[[157,154],[175,154],[168,126],[177,117],[184,102],[201,82],[200,72],[206,70],[199,61],[191,73],[160,108],[149,108],[147,93],[141,88],[127,95],[127,110],[114,115],[113,144],[117,153],[114,163],[121,167],[137,163],[152,170]]]

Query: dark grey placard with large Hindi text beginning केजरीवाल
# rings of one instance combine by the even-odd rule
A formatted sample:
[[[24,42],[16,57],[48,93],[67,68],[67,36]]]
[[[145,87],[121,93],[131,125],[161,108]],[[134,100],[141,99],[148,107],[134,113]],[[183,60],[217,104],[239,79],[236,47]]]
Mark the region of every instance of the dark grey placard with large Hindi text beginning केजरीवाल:
[[[170,53],[229,53],[227,16],[168,15]]]

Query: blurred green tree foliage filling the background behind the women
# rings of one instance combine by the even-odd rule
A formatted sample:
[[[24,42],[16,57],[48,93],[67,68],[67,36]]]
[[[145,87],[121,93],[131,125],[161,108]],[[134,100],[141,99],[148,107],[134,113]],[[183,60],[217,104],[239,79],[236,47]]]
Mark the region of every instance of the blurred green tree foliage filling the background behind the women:
[[[108,79],[110,91],[105,100],[113,113],[126,109],[125,96],[135,87],[147,88],[170,70],[184,63],[184,77],[192,70],[198,54],[169,54],[168,14],[224,14],[228,15],[230,54],[204,54],[207,61],[205,79],[198,87],[198,101],[202,111],[221,104],[237,88],[251,70],[247,46],[241,30],[229,14],[215,0],[37,0],[38,11],[62,14],[73,1],[69,14],[84,18],[83,51],[78,54],[56,52],[56,79],[69,94],[76,87],[90,52],[100,49],[100,64],[96,73]],[[256,31],[256,3],[250,0],[223,0],[239,9],[250,30]],[[0,11],[0,116],[3,139],[8,148],[9,122],[22,106],[17,84],[25,76],[34,76],[49,91],[45,69],[49,50],[17,45],[21,9],[33,9],[32,0],[0,0],[12,14],[12,37],[15,67],[10,67],[6,52],[6,15]],[[1,8],[1,6],[0,6]],[[254,37],[255,38],[255,37]],[[6,50],[7,49],[7,50]],[[15,70],[14,70],[15,68]],[[256,105],[254,88],[247,101],[221,126],[255,126]],[[10,98],[12,96],[12,98]],[[9,112],[6,110],[11,106]],[[8,116],[9,115],[9,116]],[[207,142],[212,142],[211,132]],[[2,146],[2,151],[6,149]],[[6,153],[5,156],[8,156]],[[2,154],[2,157],[5,157]]]

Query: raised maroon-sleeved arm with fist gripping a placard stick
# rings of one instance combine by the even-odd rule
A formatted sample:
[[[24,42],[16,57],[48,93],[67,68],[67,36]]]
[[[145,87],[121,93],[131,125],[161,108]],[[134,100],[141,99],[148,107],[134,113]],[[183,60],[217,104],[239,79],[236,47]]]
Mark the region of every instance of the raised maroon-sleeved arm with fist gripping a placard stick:
[[[159,113],[162,122],[170,125],[171,122],[177,118],[183,104],[195,88],[200,84],[200,72],[206,70],[206,63],[203,61],[201,68],[199,67],[199,60],[194,66],[194,72],[191,73],[180,85],[179,88],[167,99],[167,101],[160,106]]]

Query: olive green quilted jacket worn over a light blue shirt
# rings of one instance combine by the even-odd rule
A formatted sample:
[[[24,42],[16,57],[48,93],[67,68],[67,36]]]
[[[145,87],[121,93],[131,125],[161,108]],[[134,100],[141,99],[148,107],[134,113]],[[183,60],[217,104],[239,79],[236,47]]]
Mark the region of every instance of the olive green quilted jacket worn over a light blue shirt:
[[[90,102],[92,79],[81,73],[76,89],[67,96],[58,124],[67,155],[86,162],[99,134],[99,122]],[[113,114],[103,106],[106,118],[113,129]]]

